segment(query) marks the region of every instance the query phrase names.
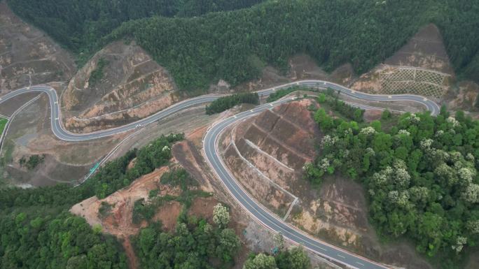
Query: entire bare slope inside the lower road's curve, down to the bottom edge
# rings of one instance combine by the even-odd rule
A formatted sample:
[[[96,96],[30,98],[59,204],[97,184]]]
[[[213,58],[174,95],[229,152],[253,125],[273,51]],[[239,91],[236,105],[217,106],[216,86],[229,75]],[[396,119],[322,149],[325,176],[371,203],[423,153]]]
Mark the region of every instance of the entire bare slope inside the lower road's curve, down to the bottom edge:
[[[361,184],[331,177],[318,188],[303,179],[321,140],[311,105],[318,106],[307,99],[287,103],[226,131],[219,150],[232,174],[278,217],[326,242],[384,263],[429,268],[407,244],[378,242]]]

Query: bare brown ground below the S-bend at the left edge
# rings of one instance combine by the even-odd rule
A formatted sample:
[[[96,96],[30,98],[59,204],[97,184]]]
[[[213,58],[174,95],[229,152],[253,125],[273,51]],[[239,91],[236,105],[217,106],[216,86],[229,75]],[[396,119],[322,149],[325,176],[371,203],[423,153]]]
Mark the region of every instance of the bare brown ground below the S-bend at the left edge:
[[[123,136],[125,134],[81,143],[58,140],[51,131],[50,110],[43,95],[11,122],[1,152],[6,160],[2,175],[11,184],[32,186],[76,182]],[[33,154],[46,154],[46,159],[33,170],[20,167],[20,158]]]

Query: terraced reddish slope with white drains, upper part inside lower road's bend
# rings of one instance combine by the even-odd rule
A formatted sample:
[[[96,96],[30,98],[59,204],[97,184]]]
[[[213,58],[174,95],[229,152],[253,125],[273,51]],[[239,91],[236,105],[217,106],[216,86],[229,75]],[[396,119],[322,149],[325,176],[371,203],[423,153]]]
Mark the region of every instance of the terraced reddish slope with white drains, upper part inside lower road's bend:
[[[222,151],[233,175],[280,217],[310,189],[298,180],[304,163],[315,157],[319,137],[307,106],[304,100],[266,110],[224,134]]]

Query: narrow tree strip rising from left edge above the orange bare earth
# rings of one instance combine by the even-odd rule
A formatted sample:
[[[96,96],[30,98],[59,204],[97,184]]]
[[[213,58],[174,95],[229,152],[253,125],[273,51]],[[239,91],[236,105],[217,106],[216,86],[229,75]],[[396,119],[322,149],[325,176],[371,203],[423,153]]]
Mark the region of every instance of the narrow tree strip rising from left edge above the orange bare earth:
[[[131,150],[123,157],[109,161],[81,186],[72,188],[70,184],[56,184],[35,189],[0,189],[0,210],[48,205],[68,208],[91,196],[104,198],[114,191],[128,186],[141,175],[165,165],[171,158],[172,144],[183,139],[183,134],[161,136],[140,150]],[[135,159],[133,168],[128,164]]]

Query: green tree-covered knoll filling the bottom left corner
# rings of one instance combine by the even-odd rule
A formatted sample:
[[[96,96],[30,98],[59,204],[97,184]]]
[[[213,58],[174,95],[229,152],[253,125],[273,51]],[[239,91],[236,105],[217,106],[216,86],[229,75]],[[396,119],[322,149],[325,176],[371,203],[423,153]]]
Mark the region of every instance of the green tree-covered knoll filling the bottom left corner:
[[[127,269],[115,238],[92,230],[85,219],[67,212],[0,213],[0,237],[1,269]]]

